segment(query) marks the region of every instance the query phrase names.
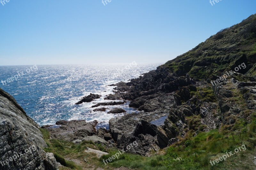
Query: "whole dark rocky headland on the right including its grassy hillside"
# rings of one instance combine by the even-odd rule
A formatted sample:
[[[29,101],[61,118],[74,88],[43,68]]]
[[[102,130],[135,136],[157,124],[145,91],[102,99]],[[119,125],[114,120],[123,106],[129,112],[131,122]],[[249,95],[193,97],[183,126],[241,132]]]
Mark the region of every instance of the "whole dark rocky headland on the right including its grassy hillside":
[[[241,118],[250,122],[256,104],[255,64],[252,15],[143,77],[116,84],[112,98],[131,100],[129,106],[142,112],[110,120],[113,139],[120,148],[137,141],[139,149],[128,152],[147,155],[191,130],[232,129]],[[245,103],[236,101],[239,96]]]

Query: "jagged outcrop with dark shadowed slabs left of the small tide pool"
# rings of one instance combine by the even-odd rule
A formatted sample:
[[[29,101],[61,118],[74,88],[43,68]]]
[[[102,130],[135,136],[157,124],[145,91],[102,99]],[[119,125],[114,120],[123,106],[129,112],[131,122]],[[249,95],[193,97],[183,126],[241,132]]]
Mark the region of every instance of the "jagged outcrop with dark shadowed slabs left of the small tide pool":
[[[157,151],[167,146],[169,139],[163,129],[144,120],[129,118],[129,115],[109,121],[109,129],[113,139],[117,141],[118,148],[126,148],[137,141],[138,146],[127,152],[146,155],[152,149]]]

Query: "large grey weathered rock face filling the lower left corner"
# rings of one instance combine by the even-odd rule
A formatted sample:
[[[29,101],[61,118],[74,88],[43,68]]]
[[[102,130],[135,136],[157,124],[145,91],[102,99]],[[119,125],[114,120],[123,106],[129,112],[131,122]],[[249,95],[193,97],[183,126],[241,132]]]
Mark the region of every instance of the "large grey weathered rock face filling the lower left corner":
[[[0,89],[0,169],[58,169],[47,147],[39,126],[17,104],[15,99]]]

